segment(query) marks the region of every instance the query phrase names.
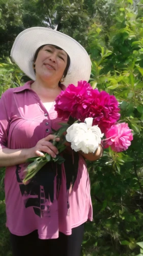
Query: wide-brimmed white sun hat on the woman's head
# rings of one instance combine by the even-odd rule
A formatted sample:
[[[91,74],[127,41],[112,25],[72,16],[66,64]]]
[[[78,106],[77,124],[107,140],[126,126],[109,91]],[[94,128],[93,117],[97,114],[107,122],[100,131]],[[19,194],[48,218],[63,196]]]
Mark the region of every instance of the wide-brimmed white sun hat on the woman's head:
[[[11,57],[28,77],[36,79],[33,59],[36,50],[42,45],[58,46],[69,55],[70,67],[62,82],[65,86],[70,83],[77,86],[80,80],[89,81],[91,60],[87,51],[70,36],[44,27],[25,29],[16,37],[11,49]]]

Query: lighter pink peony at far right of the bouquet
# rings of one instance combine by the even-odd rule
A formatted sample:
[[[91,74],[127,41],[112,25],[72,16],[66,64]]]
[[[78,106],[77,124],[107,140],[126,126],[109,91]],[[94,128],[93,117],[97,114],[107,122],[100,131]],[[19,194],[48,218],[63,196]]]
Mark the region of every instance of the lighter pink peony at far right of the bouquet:
[[[113,124],[105,133],[104,147],[111,147],[112,151],[122,152],[128,149],[133,140],[132,130],[128,123]]]

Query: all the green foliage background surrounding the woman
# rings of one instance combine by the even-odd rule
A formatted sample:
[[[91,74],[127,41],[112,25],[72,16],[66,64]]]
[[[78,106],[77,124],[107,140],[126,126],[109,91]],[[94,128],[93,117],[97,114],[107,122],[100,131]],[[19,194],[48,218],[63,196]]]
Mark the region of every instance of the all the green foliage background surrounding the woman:
[[[143,0],[0,0],[0,95],[27,79],[11,62],[16,35],[50,26],[78,40],[93,63],[91,84],[117,97],[134,140],[88,163],[94,221],[85,227],[82,255],[143,255]],[[0,173],[0,255],[11,255],[5,227],[4,169]]]

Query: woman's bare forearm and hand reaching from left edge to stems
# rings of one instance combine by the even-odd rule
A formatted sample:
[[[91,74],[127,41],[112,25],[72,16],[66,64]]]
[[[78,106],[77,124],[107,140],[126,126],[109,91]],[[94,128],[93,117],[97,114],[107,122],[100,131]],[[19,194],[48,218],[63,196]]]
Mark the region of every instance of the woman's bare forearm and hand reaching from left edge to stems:
[[[31,157],[43,157],[42,152],[48,153],[51,157],[56,157],[58,149],[52,145],[50,140],[55,138],[50,134],[47,137],[39,140],[35,147],[23,148],[18,150],[11,150],[10,148],[2,148],[0,150],[0,166],[12,166],[16,164],[25,163],[28,158]],[[56,138],[55,141],[59,141],[60,138]]]

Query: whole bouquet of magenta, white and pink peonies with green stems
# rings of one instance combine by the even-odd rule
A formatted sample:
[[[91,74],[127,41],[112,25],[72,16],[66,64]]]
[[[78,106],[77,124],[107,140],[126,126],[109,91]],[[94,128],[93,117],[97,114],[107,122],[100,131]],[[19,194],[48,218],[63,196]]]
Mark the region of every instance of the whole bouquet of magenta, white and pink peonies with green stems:
[[[45,157],[28,159],[32,163],[25,169],[24,184],[47,162],[64,162],[60,153],[65,150],[66,141],[71,142],[74,151],[88,154],[97,150],[103,136],[104,147],[110,146],[111,150],[116,152],[127,150],[133,139],[128,124],[117,122],[120,119],[120,108],[116,97],[93,89],[86,81],[79,81],[77,87],[70,84],[55,102],[58,117],[62,120],[68,119],[66,124],[61,123],[62,127],[53,133],[60,137],[59,142],[52,142],[58,148],[59,155],[52,158],[45,154]]]

